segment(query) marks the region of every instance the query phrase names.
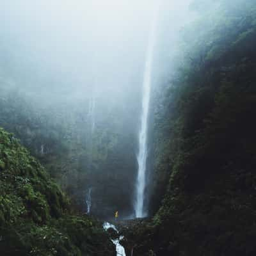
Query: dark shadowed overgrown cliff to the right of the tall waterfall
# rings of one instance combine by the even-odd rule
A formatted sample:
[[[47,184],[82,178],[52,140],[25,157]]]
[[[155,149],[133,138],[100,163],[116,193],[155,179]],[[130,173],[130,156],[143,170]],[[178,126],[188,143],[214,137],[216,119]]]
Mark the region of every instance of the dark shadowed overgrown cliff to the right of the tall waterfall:
[[[139,255],[256,252],[255,3],[220,1],[201,16],[156,109],[159,195],[169,181],[153,221],[131,232]]]

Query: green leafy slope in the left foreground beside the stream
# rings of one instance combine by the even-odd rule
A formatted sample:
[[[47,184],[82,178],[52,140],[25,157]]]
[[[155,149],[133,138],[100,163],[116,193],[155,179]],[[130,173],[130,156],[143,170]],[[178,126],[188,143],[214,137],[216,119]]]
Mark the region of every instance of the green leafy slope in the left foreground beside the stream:
[[[44,168],[0,129],[1,255],[114,255],[101,223],[70,214]]]

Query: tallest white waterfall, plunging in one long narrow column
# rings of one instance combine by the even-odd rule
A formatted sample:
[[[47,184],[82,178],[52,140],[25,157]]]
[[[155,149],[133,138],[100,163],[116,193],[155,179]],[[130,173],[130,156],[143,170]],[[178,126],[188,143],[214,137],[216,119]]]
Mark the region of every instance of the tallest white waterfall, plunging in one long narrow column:
[[[150,89],[152,83],[152,63],[154,58],[154,45],[156,41],[156,27],[157,27],[158,10],[154,13],[152,20],[152,28],[148,40],[147,58],[145,61],[145,71],[143,77],[143,100],[141,113],[141,127],[139,134],[139,153],[138,160],[138,178],[136,184],[136,202],[134,205],[136,218],[143,218],[147,216],[147,209],[145,209],[145,186],[147,173],[147,132],[148,132],[148,110],[150,103]]]

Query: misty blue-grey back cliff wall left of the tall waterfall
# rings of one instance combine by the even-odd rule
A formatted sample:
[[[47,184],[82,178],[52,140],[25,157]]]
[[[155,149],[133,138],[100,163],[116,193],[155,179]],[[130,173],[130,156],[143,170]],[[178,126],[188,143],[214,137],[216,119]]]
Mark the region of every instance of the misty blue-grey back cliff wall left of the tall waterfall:
[[[4,80],[5,79],[5,80]],[[0,77],[0,125],[13,132],[51,177],[72,198],[74,207],[86,212],[85,198],[92,188],[92,212],[101,218],[131,212],[136,175],[136,125],[129,109],[115,106],[95,113],[91,131],[88,102],[36,104],[16,90],[4,87]],[[24,86],[26,88],[26,86]],[[100,111],[102,106],[97,106]],[[127,112],[127,115],[123,113]],[[138,115],[137,113],[135,115]],[[123,129],[126,133],[123,134]],[[120,193],[120,187],[124,187]],[[125,200],[120,200],[125,198]]]

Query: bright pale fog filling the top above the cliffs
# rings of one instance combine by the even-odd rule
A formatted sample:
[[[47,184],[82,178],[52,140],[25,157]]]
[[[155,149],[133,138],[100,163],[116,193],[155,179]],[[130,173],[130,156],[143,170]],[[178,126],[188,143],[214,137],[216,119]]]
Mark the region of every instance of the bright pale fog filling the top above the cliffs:
[[[13,83],[31,92],[51,90],[82,98],[93,90],[109,97],[138,88],[153,13],[159,9],[158,44],[165,41],[174,48],[171,34],[189,19],[188,3],[1,1],[1,43],[10,54],[6,58],[12,58],[10,65],[21,74]]]

